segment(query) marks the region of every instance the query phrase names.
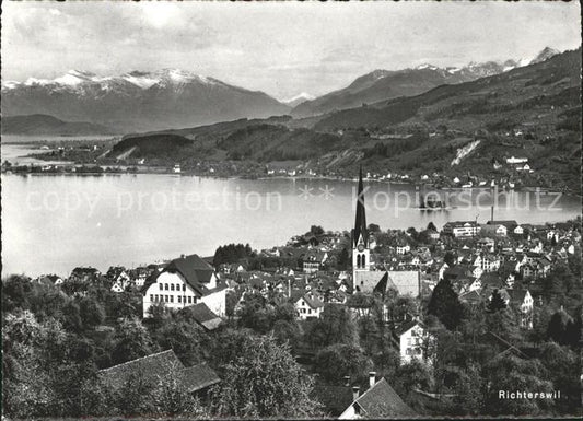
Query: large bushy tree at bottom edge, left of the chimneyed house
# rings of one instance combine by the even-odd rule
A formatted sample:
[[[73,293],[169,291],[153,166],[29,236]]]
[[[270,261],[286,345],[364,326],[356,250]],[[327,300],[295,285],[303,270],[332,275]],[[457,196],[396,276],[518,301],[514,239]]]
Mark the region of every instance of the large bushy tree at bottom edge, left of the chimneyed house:
[[[238,356],[225,366],[220,385],[211,390],[218,417],[314,417],[310,398],[313,379],[273,337],[247,337]]]

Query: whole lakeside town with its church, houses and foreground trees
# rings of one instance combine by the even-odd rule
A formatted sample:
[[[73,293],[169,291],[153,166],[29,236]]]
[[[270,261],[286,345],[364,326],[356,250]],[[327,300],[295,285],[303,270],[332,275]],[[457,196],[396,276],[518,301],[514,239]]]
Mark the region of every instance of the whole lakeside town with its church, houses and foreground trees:
[[[581,414],[581,218],[392,230],[369,178],[351,231],[3,279],[5,413]]]

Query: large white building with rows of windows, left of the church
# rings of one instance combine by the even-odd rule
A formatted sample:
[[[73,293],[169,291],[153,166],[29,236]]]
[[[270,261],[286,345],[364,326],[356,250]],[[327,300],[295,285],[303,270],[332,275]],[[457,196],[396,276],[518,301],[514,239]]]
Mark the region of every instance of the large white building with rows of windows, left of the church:
[[[143,317],[150,307],[164,303],[166,308],[180,309],[205,303],[220,317],[225,312],[226,285],[219,282],[214,269],[197,255],[172,260],[152,282],[142,288]]]

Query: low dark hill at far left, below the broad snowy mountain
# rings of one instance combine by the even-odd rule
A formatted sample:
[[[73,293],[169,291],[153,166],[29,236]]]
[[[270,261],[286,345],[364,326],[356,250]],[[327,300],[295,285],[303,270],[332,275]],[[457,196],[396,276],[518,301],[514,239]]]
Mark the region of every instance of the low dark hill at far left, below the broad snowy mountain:
[[[2,117],[3,135],[21,136],[89,136],[112,135],[114,130],[86,121],[63,121],[45,114]]]

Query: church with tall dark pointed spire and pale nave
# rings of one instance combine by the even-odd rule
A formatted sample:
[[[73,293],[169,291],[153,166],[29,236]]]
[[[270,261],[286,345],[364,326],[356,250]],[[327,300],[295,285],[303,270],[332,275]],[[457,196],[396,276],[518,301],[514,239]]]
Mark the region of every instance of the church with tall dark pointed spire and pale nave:
[[[364,183],[362,167],[359,173],[357,192],[357,219],[351,235],[352,246],[352,286],[354,292],[384,293],[392,288],[399,294],[418,296],[420,293],[420,273],[418,270],[387,271],[376,270],[371,260],[371,237],[366,225],[366,208],[364,206]]]

